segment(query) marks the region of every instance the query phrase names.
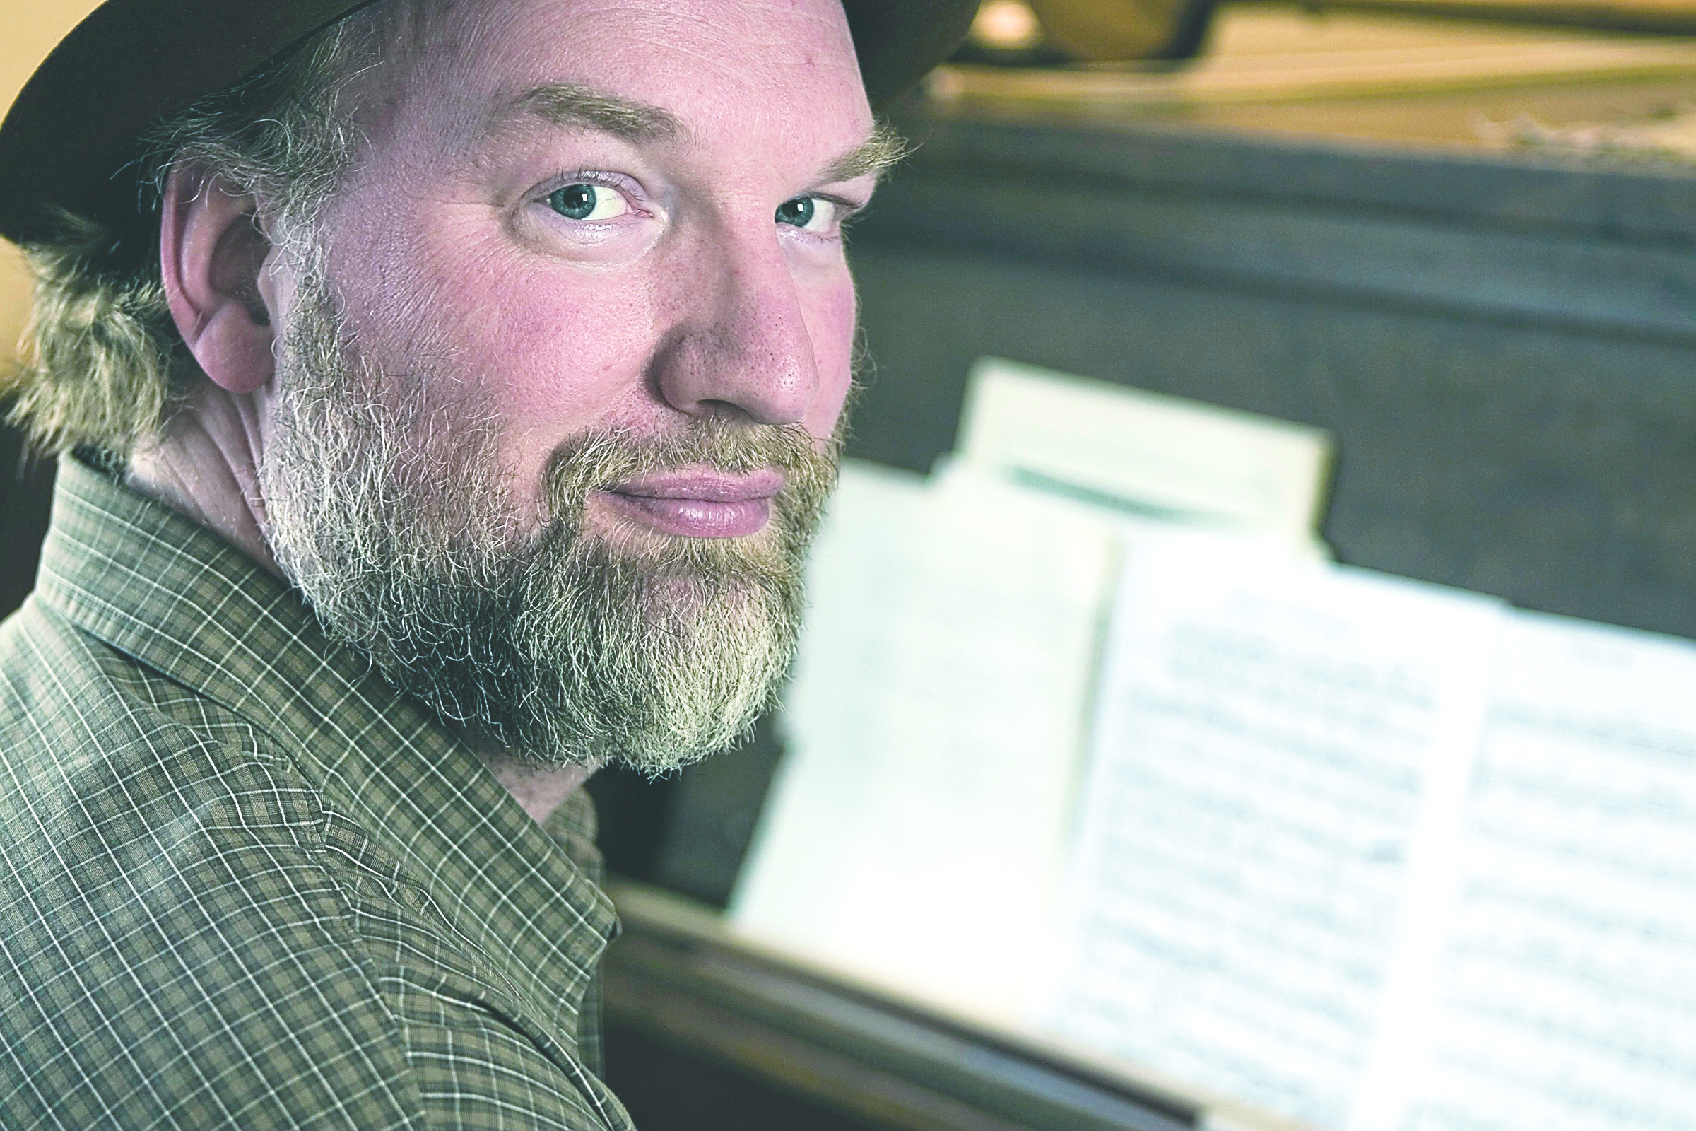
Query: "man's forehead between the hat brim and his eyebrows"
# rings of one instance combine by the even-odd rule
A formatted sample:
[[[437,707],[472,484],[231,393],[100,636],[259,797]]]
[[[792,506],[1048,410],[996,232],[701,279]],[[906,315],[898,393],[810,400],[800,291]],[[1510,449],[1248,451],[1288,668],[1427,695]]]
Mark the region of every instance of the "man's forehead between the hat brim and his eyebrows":
[[[840,149],[872,125],[840,0],[458,0],[397,31],[407,66],[385,117],[465,141],[550,85],[660,107],[704,142]]]

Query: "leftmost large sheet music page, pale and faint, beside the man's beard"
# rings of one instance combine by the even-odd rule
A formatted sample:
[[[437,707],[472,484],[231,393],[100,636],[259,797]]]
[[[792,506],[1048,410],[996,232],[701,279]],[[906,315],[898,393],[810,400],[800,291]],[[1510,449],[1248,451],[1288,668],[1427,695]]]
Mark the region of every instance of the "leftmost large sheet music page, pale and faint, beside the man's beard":
[[[1109,527],[1028,492],[846,465],[738,929],[1021,1017],[1052,956],[1111,560]]]

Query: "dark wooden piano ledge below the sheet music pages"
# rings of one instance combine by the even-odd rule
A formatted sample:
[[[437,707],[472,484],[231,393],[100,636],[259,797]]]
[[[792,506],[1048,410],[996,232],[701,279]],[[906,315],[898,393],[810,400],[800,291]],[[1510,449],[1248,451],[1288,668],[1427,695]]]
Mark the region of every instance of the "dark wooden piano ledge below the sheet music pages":
[[[1197,1111],[738,944],[706,912],[616,889],[612,1026],[902,1131],[1180,1131]]]

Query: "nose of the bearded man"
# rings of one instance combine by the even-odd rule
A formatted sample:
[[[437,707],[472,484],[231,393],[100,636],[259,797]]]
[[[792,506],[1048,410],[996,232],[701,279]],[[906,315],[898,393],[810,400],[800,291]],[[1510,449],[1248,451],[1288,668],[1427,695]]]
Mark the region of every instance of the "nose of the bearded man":
[[[658,393],[692,417],[795,424],[819,392],[801,287],[770,227],[734,241],[719,229],[714,242],[655,356]]]

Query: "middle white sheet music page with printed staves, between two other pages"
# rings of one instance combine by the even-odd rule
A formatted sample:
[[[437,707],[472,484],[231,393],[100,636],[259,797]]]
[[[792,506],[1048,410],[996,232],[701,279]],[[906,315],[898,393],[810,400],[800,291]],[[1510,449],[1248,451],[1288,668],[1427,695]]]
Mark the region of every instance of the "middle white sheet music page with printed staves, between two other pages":
[[[1133,539],[1041,1022],[1319,1128],[1394,1128],[1503,617],[1414,582]]]

